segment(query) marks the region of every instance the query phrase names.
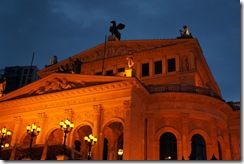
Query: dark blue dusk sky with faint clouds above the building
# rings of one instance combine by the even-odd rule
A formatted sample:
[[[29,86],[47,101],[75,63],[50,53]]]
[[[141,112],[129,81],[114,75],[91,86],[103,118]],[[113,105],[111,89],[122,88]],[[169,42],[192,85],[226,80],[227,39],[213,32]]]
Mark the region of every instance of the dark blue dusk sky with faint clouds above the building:
[[[170,39],[189,27],[226,101],[240,101],[238,0],[0,0],[0,69],[64,60],[104,42],[111,20],[121,40]]]

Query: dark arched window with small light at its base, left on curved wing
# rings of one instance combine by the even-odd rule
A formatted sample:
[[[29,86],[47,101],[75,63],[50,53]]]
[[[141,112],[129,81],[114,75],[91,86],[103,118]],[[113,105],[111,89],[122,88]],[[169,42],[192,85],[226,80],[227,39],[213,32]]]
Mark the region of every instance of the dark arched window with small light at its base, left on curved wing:
[[[160,137],[160,160],[177,160],[176,137],[170,132],[164,133]]]

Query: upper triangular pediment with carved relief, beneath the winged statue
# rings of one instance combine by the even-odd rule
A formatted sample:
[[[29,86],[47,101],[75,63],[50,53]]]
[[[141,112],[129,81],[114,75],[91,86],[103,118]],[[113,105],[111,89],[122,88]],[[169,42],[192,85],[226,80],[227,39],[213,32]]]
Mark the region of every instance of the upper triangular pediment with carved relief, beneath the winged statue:
[[[37,72],[41,78],[57,72],[59,68],[70,64],[70,61],[79,60],[83,64],[92,63],[111,57],[119,57],[130,53],[149,52],[160,48],[169,48],[173,46],[189,43],[195,39],[158,39],[158,40],[121,40],[107,41],[92,47],[86,51],[80,52],[72,57],[56,64],[47,65],[44,69]]]

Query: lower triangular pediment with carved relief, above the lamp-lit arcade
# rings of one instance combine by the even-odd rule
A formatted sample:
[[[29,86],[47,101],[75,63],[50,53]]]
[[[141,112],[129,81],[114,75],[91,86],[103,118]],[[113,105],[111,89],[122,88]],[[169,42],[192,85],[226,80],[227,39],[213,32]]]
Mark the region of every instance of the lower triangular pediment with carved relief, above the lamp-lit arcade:
[[[125,81],[128,77],[54,73],[0,97],[0,101]]]

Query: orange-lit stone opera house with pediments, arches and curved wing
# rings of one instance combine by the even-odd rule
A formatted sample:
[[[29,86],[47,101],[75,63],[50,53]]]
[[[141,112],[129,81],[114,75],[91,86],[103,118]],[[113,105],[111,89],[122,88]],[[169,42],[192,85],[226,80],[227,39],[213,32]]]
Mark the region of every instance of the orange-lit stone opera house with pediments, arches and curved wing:
[[[115,38],[0,97],[0,128],[11,131],[2,159],[240,160],[240,110],[222,98],[196,38]],[[39,134],[27,134],[33,123]]]

